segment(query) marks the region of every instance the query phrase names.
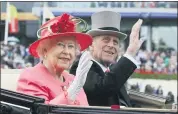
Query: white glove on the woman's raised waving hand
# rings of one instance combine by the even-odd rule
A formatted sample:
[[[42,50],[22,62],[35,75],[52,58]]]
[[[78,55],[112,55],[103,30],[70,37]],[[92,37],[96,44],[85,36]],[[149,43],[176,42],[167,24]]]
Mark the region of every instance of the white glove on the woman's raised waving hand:
[[[90,70],[93,62],[92,57],[88,51],[85,51],[80,57],[79,64],[76,70],[76,76],[70,87],[68,88],[68,98],[70,100],[75,100],[77,94],[83,88],[88,71]]]

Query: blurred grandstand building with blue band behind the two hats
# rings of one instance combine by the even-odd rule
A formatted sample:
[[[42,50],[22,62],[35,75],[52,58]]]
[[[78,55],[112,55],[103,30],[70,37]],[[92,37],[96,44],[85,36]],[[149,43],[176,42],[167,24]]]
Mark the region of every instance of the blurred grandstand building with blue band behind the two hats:
[[[112,10],[121,13],[121,31],[130,34],[132,25],[138,18],[144,20],[141,37],[148,40],[142,48],[149,51],[158,48],[177,50],[177,2],[11,2],[18,10],[19,32],[9,34],[17,36],[21,43],[28,46],[37,39],[36,31],[42,24],[43,6],[47,6],[54,16],[64,12],[81,17],[91,25],[92,13]],[[4,38],[6,2],[1,2],[1,41]],[[48,20],[48,19],[46,19]],[[82,26],[82,25],[81,25]],[[128,45],[124,42],[124,48]],[[162,45],[159,45],[160,42]]]

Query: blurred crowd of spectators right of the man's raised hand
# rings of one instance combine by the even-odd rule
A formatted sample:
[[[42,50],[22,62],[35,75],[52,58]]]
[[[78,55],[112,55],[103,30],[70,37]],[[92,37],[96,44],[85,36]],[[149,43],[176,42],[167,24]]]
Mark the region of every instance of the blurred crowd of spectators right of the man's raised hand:
[[[177,52],[174,50],[153,52],[140,50],[136,60],[140,62],[140,70],[177,74]]]

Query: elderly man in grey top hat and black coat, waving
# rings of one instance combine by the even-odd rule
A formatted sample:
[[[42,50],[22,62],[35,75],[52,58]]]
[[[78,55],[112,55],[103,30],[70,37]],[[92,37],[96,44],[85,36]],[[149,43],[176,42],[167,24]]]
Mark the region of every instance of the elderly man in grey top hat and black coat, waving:
[[[93,65],[84,85],[89,105],[131,106],[124,83],[138,65],[134,57],[144,42],[143,39],[139,39],[142,20],[139,19],[133,26],[129,46],[120,59],[120,43],[127,37],[120,32],[120,14],[101,11],[93,14],[91,20],[92,29],[87,33],[93,37],[93,43],[89,48]],[[77,66],[78,61],[74,62],[70,73],[75,74]]]

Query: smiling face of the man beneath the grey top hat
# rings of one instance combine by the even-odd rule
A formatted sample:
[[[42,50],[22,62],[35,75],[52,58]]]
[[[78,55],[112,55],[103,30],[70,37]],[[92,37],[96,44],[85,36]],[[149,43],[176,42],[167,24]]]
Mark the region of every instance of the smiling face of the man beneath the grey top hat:
[[[95,60],[108,65],[115,62],[119,52],[119,39],[115,36],[102,35],[94,37],[91,53]]]

